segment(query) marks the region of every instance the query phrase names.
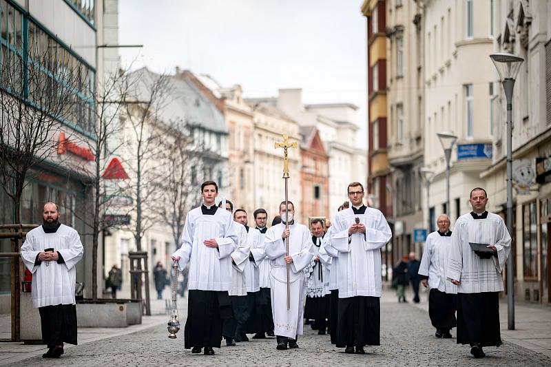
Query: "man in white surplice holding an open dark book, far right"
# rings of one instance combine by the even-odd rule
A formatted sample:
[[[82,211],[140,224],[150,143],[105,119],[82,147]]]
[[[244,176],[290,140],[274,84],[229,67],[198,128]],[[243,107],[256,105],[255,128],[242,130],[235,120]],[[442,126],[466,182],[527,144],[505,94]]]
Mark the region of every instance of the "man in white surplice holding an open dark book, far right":
[[[499,292],[511,236],[503,219],[486,211],[486,190],[472,189],[469,202],[472,211],[455,222],[446,278],[457,285],[457,344],[469,344],[480,358],[484,346],[501,345]]]

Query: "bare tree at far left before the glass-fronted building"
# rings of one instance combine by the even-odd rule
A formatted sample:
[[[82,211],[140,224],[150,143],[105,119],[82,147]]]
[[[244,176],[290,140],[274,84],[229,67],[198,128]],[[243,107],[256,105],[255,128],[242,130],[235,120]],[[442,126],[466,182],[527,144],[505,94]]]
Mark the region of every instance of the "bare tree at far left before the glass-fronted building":
[[[0,186],[19,223],[25,178],[59,147],[61,121],[85,129],[94,124],[90,105],[76,96],[88,95],[94,81],[68,50],[53,43],[39,48],[31,39],[27,48],[15,49],[2,48],[0,61]]]

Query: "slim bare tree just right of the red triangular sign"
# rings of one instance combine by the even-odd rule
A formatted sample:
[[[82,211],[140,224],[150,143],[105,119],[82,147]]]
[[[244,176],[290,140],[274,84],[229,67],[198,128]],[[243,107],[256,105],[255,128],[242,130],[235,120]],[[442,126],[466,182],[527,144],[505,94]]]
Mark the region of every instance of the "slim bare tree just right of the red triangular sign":
[[[124,108],[124,123],[128,141],[125,149],[132,160],[131,187],[134,203],[132,224],[129,230],[134,235],[136,250],[141,251],[141,241],[147,229],[158,219],[154,211],[144,212],[144,207],[158,205],[158,191],[155,188],[156,163],[160,151],[160,126],[163,109],[169,101],[171,88],[167,74],[154,74],[147,70],[138,70],[132,74],[135,84]]]

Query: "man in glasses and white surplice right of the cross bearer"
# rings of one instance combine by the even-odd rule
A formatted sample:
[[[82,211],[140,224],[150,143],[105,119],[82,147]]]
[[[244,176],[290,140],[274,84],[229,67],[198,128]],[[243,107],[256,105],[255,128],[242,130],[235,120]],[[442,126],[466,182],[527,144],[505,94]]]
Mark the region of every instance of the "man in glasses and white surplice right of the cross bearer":
[[[380,249],[392,233],[383,214],[364,205],[360,182],[347,189],[352,207],[336,214],[331,235],[331,245],[339,251],[336,345],[346,347],[345,353],[364,354],[364,346],[380,345]]]

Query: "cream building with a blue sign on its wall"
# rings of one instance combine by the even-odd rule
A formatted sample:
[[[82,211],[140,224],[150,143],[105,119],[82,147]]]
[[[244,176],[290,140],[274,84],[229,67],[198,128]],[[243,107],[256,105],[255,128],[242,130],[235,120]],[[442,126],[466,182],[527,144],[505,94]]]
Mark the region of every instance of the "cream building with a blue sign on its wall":
[[[490,93],[493,1],[424,3],[424,162],[435,176],[424,208],[435,230],[440,213],[453,224],[470,211],[468,196],[484,185],[480,174],[492,159]],[[437,133],[457,136],[450,163],[450,207],[446,207],[446,161]],[[426,200],[422,200],[424,206]]]

